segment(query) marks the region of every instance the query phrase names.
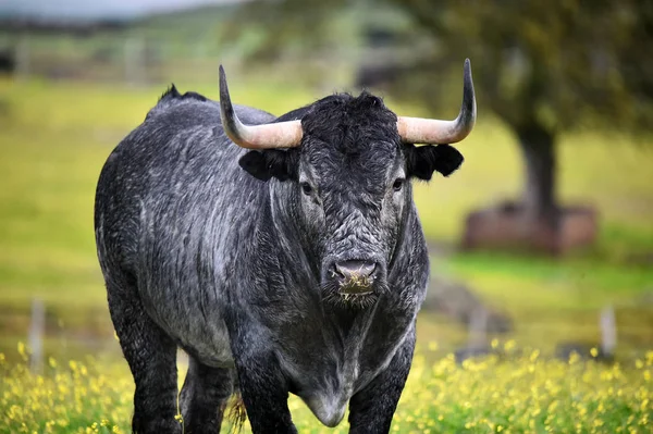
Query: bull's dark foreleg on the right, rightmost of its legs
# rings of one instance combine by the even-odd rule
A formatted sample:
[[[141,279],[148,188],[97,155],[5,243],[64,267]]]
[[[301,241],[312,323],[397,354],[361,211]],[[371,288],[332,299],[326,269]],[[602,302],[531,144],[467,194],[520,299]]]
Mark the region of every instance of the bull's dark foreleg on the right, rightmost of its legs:
[[[392,417],[410,371],[415,332],[397,350],[390,365],[349,400],[349,433],[381,434],[390,432]]]

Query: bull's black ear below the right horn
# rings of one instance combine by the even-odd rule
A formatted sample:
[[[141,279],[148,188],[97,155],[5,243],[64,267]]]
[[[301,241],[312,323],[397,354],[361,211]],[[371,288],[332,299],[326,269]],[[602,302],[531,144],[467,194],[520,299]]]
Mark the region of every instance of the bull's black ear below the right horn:
[[[463,164],[463,154],[448,145],[404,145],[408,176],[431,179],[433,172],[448,176]]]

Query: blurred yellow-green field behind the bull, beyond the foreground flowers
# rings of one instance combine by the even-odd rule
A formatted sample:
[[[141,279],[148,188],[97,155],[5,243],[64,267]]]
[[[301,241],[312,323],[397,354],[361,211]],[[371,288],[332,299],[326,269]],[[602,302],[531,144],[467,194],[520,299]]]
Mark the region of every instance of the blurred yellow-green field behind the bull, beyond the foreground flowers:
[[[321,96],[260,78],[230,79],[237,102],[272,113]],[[211,98],[218,94],[213,85],[177,87]],[[84,332],[88,318],[95,318],[93,328],[110,336],[93,235],[95,185],[111,149],[143,121],[164,88],[0,82],[0,308],[25,315],[38,297],[63,328]],[[416,107],[389,104],[399,113],[429,115]],[[455,253],[438,257],[433,272],[470,284],[518,323],[533,310],[540,315],[580,310],[590,318],[606,303],[632,303],[653,282],[652,266],[630,260],[653,251],[653,149],[629,140],[592,132],[559,142],[563,201],[589,202],[601,213],[594,248],[565,260]],[[458,172],[416,188],[427,236],[448,244],[460,238],[470,210],[515,197],[522,177],[514,137],[488,115],[458,148],[466,157]],[[431,337],[433,323],[442,322],[423,319],[424,338]],[[15,338],[24,336],[21,327],[10,328]],[[458,325],[444,330],[464,338]],[[516,336],[532,344],[519,330]],[[644,324],[644,336],[650,330]],[[3,342],[12,340],[5,336]]]

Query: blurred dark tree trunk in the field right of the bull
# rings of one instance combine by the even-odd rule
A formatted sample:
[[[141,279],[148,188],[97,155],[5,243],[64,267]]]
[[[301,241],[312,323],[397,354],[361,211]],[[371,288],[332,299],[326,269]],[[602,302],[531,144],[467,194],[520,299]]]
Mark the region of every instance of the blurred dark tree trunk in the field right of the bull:
[[[552,226],[558,214],[555,198],[556,159],[554,135],[539,125],[517,128],[526,162],[526,185],[521,206],[527,220]]]

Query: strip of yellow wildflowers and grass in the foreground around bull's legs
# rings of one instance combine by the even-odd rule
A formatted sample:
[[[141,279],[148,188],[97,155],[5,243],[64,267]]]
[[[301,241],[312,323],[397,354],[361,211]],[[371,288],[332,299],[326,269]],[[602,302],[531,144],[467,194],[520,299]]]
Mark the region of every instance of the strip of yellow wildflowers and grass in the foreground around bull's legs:
[[[628,364],[602,365],[575,357],[547,360],[538,350],[516,356],[512,342],[496,346],[503,360],[490,357],[461,367],[452,357],[430,363],[419,351],[391,432],[650,432],[653,351]],[[9,363],[0,355],[0,433],[131,431],[134,386],[124,365],[50,359],[36,375],[24,362]],[[300,433],[348,430],[346,418],[335,429],[322,426],[297,397],[288,407]],[[247,422],[244,427],[250,432]]]

